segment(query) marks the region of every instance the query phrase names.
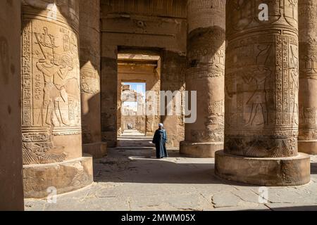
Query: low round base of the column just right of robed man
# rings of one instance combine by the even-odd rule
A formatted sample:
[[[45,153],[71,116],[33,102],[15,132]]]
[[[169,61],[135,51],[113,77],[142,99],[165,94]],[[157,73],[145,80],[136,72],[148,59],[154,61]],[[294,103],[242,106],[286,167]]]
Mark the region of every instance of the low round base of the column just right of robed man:
[[[218,150],[223,150],[222,142],[192,143],[180,141],[180,154],[193,158],[214,158]]]

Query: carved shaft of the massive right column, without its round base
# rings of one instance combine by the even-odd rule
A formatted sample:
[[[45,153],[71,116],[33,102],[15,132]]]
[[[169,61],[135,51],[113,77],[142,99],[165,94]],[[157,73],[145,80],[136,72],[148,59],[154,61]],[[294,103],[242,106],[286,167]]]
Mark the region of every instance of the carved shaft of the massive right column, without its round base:
[[[258,18],[268,5],[269,20]],[[228,1],[225,151],[250,157],[297,155],[297,1]]]

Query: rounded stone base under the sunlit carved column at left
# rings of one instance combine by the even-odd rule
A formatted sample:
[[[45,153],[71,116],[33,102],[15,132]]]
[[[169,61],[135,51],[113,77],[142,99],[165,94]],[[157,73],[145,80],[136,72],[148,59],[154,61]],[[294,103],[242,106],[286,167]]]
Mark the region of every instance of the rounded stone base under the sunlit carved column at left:
[[[24,165],[23,186],[25,198],[46,198],[47,188],[54,187],[57,194],[75,191],[92,184],[92,157],[86,156],[45,165]]]

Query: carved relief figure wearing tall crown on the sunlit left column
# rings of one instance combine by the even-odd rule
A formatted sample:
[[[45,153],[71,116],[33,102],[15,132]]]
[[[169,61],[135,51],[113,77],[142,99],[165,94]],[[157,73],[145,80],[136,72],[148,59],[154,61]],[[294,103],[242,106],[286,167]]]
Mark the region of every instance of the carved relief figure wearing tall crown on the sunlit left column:
[[[73,59],[67,53],[54,53],[57,46],[46,27],[44,34],[35,33],[35,37],[44,56],[37,62],[37,68],[44,76],[42,124],[53,124],[54,127],[68,126],[68,115],[67,112],[64,113],[63,108],[68,108],[68,93],[65,86],[68,73],[73,70]]]

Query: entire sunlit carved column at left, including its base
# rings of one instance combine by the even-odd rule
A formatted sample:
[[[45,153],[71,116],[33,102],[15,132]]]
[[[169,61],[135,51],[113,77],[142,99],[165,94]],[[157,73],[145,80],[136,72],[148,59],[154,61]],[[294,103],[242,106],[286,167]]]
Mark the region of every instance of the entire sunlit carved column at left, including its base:
[[[26,198],[92,183],[82,157],[78,1],[23,1],[22,135]]]

